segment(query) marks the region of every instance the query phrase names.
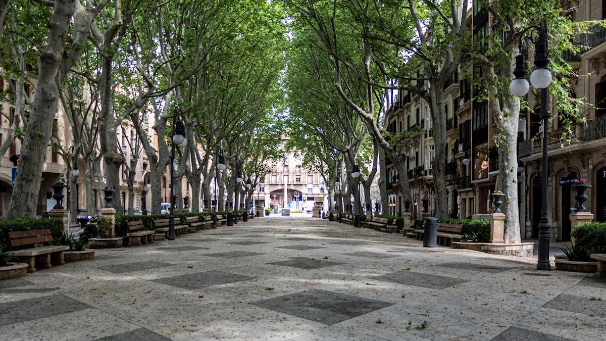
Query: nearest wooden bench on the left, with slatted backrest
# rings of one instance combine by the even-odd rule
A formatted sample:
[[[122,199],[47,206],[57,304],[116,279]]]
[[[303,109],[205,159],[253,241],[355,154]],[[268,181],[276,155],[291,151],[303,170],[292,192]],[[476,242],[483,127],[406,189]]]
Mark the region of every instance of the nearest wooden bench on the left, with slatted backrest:
[[[8,238],[10,238],[10,245],[13,247],[53,241],[50,229],[8,232]],[[63,252],[69,249],[70,247],[67,245],[41,246],[13,251],[12,254],[27,263],[27,272],[35,272],[36,262],[44,269],[52,268],[53,265],[65,264]]]

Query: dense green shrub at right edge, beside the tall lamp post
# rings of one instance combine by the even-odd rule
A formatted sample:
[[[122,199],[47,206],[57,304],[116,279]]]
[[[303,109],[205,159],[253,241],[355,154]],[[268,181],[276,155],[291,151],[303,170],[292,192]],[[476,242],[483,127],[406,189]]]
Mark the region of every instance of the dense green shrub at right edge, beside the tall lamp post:
[[[574,244],[571,248],[562,249],[568,260],[597,262],[590,255],[606,253],[606,223],[594,222],[577,226],[572,236]]]

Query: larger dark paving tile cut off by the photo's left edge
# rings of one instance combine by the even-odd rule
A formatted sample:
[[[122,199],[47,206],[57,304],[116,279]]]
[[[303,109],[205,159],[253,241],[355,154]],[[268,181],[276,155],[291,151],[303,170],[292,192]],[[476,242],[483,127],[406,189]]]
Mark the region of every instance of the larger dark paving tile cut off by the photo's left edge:
[[[31,321],[88,308],[92,308],[92,306],[85,305],[64,295],[50,295],[0,303],[0,325]]]

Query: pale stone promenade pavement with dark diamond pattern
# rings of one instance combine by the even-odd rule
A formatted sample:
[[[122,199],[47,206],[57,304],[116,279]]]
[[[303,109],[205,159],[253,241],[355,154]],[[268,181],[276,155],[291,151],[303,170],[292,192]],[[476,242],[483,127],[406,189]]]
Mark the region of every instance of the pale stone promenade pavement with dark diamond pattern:
[[[606,340],[606,280],[318,218],[96,255],[1,281],[0,341]]]

